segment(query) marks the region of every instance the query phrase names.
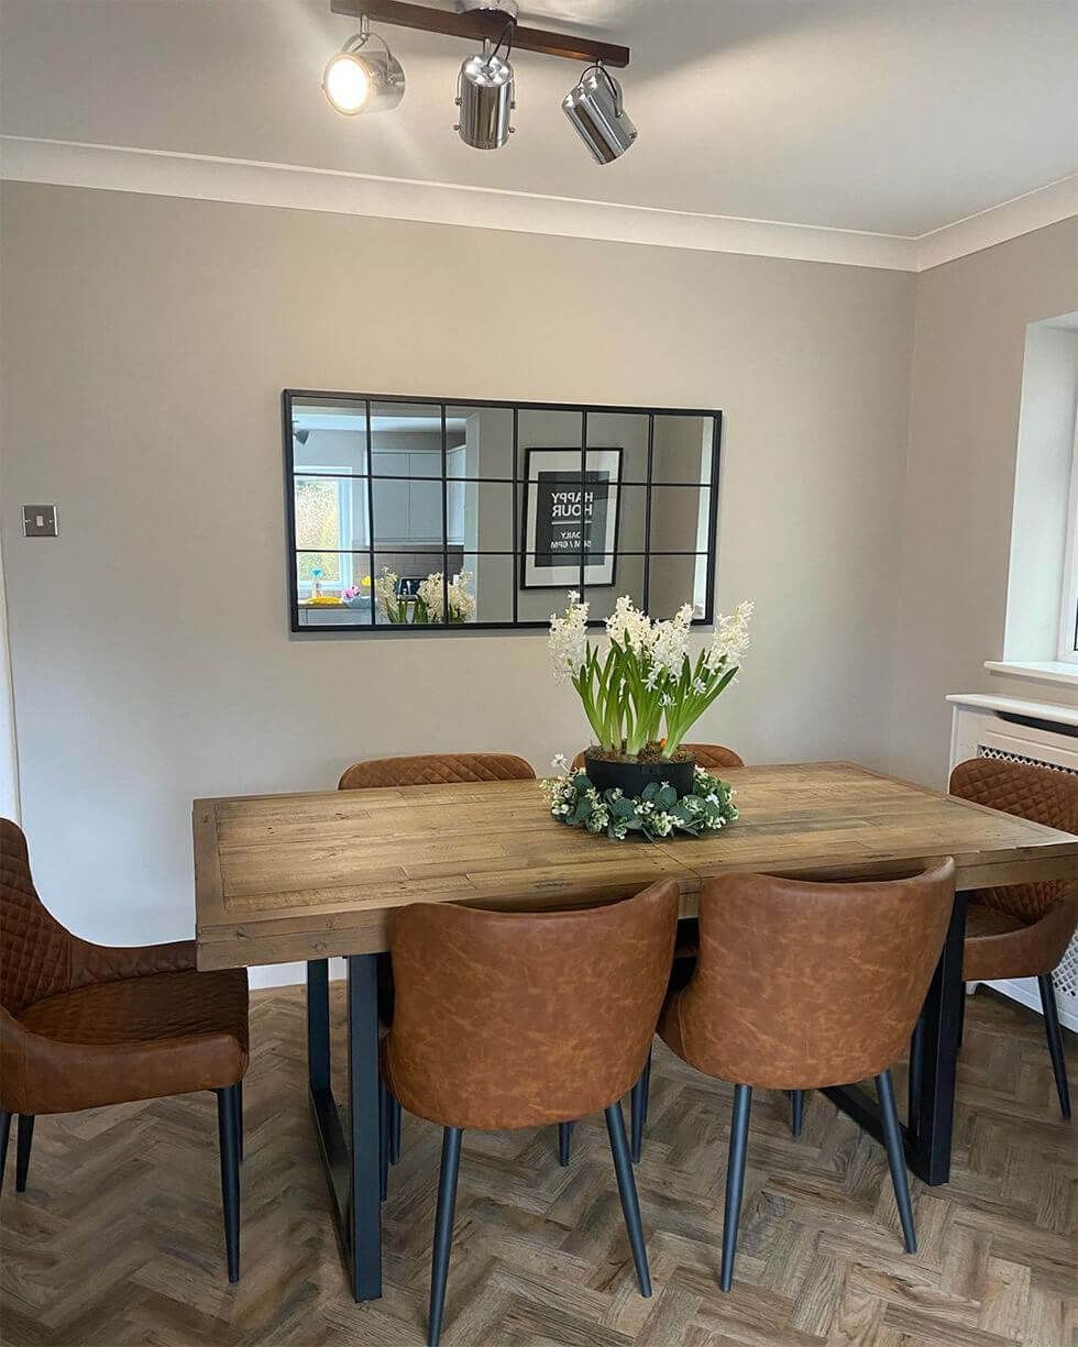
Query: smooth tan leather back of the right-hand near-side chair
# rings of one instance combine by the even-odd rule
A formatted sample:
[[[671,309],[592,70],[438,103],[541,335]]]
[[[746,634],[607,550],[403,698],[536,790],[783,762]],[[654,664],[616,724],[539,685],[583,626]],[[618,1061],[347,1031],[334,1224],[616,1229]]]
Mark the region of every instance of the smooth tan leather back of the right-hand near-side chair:
[[[668,1008],[693,1065],[811,1090],[879,1075],[907,1048],[943,947],[954,862],[903,880],[707,880],[699,958]]]

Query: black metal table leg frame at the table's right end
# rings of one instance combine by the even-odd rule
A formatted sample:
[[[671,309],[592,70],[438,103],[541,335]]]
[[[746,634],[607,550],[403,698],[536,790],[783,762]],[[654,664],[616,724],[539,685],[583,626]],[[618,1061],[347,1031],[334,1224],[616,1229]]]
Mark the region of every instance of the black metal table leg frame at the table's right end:
[[[943,952],[928,985],[911,1045],[916,1080],[911,1083],[910,1119],[903,1127],[903,1146],[910,1168],[931,1185],[946,1183],[951,1172],[954,1079],[958,1068],[961,998],[965,995],[962,959],[966,907],[966,894],[955,893]],[[877,1141],[884,1140],[879,1105],[864,1090],[858,1086],[834,1086],[823,1094]]]

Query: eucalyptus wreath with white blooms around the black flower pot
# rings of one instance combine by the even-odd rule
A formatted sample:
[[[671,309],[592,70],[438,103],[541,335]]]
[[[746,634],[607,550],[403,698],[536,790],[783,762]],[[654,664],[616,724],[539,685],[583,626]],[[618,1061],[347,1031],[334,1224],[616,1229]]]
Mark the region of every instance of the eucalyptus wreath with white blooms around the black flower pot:
[[[554,776],[540,783],[550,803],[550,812],[570,828],[605,832],[624,842],[631,832],[639,832],[649,842],[668,838],[675,832],[699,836],[717,832],[737,819],[733,787],[710,772],[697,768],[693,791],[678,799],[672,785],[652,781],[643,795],[624,795],[616,787],[597,791],[583,772]]]

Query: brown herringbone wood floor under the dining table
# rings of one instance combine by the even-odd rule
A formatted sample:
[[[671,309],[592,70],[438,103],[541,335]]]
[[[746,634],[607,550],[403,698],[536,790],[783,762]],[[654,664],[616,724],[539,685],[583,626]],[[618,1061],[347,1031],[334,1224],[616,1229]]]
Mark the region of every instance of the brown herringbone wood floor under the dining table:
[[[422,1344],[438,1130],[404,1119],[385,1296],[354,1305],[307,1115],[302,993],[259,993],[251,1018],[240,1285],[224,1270],[212,1095],[42,1118],[26,1193],[8,1162],[5,1343]],[[1078,1130],[1059,1121],[1031,1012],[984,990],[969,1005],[953,1181],[915,1184],[912,1258],[883,1150],[819,1095],[794,1141],[784,1098],[760,1091],[724,1296],[730,1098],[656,1048],[637,1171],[651,1300],[601,1117],[577,1129],[569,1169],[554,1129],[466,1134],[445,1347],[1070,1347]]]

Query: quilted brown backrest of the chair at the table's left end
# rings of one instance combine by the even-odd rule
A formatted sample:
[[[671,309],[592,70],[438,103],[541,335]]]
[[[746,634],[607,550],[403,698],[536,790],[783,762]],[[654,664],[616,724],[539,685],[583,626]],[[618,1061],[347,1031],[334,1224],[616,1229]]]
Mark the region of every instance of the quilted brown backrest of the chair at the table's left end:
[[[0,819],[0,1006],[22,1014],[70,975],[71,936],[38,897],[23,830]]]

